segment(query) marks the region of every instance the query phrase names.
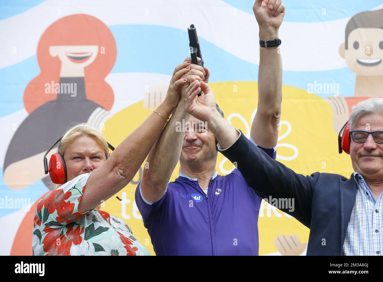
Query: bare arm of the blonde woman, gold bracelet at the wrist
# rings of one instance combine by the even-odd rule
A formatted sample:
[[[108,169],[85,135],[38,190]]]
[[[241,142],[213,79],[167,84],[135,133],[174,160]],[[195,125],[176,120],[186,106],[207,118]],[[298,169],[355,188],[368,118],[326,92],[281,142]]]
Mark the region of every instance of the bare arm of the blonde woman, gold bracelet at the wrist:
[[[172,87],[179,88],[186,82],[184,79],[177,79],[173,81]],[[177,107],[179,100],[178,91],[168,91],[165,101],[155,109],[158,114],[152,112],[118,145],[108,160],[92,172],[79,203],[80,213],[93,209],[102,201],[108,200],[133,179],[162,132],[170,113]]]

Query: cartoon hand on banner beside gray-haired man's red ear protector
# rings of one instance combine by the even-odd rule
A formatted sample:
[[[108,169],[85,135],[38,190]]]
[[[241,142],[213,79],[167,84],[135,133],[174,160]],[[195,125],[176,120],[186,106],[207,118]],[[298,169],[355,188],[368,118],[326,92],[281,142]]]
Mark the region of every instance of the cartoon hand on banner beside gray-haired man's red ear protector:
[[[332,126],[336,133],[339,133],[342,126],[349,119],[349,106],[341,95],[329,96],[324,99],[332,109]]]

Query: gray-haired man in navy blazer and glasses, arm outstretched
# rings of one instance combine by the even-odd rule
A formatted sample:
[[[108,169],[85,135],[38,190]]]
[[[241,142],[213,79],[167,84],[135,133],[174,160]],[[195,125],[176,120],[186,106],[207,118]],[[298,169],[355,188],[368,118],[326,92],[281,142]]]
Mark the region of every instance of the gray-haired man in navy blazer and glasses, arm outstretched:
[[[261,198],[291,198],[295,209],[281,208],[310,229],[307,255],[370,255],[383,251],[383,99],[353,107],[351,131],[342,149],[350,152],[354,173],[295,173],[252,144],[240,130],[215,114],[214,94],[200,99],[191,91],[185,109],[208,122],[218,150],[236,162],[247,185]],[[348,139],[347,139],[348,138]],[[347,142],[344,142],[344,141]],[[293,242],[291,242],[292,244]]]

